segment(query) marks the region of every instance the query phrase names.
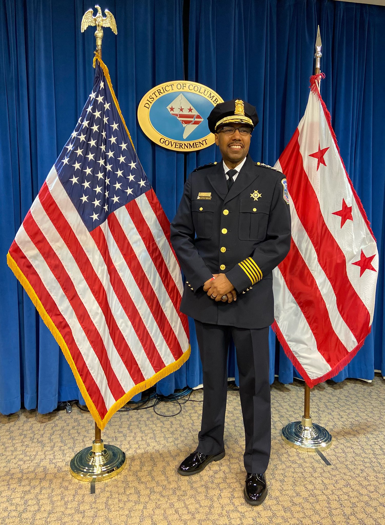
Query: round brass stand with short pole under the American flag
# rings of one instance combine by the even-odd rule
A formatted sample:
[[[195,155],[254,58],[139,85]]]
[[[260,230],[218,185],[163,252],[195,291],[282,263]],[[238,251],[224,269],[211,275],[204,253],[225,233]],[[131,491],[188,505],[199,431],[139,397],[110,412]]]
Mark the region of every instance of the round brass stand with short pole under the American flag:
[[[105,481],[126,466],[126,454],[114,445],[103,445],[100,428],[95,423],[92,447],[80,450],[70,461],[71,475],[81,481]]]

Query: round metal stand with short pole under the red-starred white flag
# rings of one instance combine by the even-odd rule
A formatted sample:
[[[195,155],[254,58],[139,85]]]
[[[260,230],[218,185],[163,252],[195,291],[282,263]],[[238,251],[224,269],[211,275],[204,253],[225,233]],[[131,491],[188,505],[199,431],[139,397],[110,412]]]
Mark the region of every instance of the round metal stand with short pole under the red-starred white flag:
[[[311,422],[310,388],[305,384],[305,414],[302,421],[294,421],[282,429],[282,438],[290,447],[304,451],[326,449],[331,445],[331,435],[326,428]]]

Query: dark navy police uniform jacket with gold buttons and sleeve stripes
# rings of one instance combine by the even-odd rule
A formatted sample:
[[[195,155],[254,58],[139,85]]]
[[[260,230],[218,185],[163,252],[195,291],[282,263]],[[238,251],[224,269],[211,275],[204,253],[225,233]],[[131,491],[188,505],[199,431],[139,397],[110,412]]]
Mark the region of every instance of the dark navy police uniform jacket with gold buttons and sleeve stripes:
[[[171,243],[186,276],[180,310],[193,319],[238,328],[274,320],[272,270],[290,248],[285,175],[248,155],[230,191],[222,161],[194,170],[171,223]],[[203,290],[225,273],[237,292],[232,303]]]

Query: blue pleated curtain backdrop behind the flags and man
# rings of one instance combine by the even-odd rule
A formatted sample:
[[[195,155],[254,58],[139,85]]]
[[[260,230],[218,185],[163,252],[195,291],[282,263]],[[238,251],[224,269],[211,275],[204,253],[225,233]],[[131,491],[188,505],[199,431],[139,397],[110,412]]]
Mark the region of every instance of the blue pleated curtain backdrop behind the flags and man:
[[[103,59],[139,158],[171,219],[186,173],[219,160],[214,147],[186,157],[158,148],[137,125],[140,99],[153,86],[183,77],[182,0],[109,3],[118,35],[105,30]],[[92,87],[92,28],[81,34],[89,4],[68,0],[5,0],[0,6],[0,412],[21,404],[46,413],[78,397],[74,377],[32,302],[7,268],[8,247],[74,129]],[[320,24],[322,96],[348,173],[371,220],[380,252],[372,334],[335,380],[385,374],[383,310],[385,8],[343,2],[191,0],[188,79],[257,107],[255,160],[274,164],[305,110]],[[186,161],[186,162],[185,162]],[[192,354],[158,383],[165,395],[202,382],[193,323]],[[287,383],[293,367],[270,337],[270,380]],[[236,375],[234,352],[229,374]],[[295,371],[294,371],[295,375]]]

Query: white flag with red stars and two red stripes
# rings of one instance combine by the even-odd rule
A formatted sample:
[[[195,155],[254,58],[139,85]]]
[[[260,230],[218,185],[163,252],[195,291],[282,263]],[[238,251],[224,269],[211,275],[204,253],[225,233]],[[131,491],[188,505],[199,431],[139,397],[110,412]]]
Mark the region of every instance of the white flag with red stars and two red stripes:
[[[273,329],[311,388],[335,376],[370,333],[376,239],[310,78],[304,117],[275,167],[287,179],[292,244],[273,272]]]

